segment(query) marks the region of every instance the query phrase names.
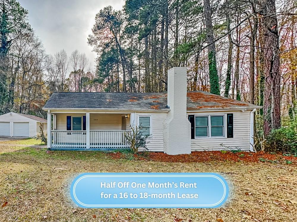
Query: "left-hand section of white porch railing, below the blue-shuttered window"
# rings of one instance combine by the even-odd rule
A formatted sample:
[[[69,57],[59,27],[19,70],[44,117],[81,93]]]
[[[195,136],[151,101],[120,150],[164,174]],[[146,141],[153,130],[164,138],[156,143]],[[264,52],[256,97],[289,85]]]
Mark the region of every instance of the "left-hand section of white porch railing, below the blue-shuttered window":
[[[85,130],[51,130],[53,148],[86,148]]]

